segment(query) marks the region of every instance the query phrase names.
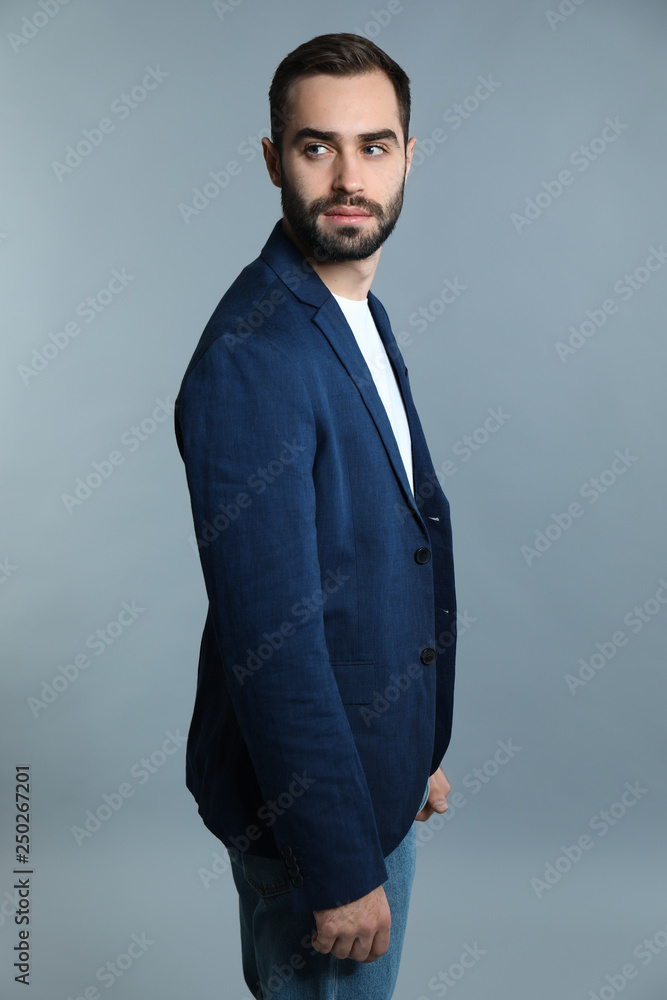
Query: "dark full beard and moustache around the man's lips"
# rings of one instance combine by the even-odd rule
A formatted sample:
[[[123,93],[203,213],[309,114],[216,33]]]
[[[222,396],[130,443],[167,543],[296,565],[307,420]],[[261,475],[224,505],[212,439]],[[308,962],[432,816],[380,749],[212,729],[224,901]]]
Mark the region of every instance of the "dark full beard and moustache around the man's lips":
[[[399,190],[384,207],[377,201],[368,201],[366,198],[346,198],[345,195],[318,198],[308,205],[297,188],[286,177],[283,169],[280,201],[283,214],[294,234],[305,246],[311,249],[312,256],[320,261],[342,263],[347,260],[364,260],[379,250],[393,232],[401,214],[404,188],[405,174]],[[374,231],[370,233],[365,231],[367,223],[361,225],[343,224],[335,229],[323,230],[317,221],[318,216],[323,212],[328,212],[336,205],[348,205],[370,212],[372,217],[377,219],[377,227],[374,227]]]

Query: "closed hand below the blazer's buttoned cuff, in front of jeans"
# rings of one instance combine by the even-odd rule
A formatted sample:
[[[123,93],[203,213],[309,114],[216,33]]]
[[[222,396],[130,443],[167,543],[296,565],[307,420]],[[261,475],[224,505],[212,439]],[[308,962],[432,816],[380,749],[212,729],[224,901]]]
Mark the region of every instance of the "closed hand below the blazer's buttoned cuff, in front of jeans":
[[[374,962],[389,947],[391,912],[381,885],[351,903],[313,910],[313,914],[317,931],[311,941],[322,955]]]

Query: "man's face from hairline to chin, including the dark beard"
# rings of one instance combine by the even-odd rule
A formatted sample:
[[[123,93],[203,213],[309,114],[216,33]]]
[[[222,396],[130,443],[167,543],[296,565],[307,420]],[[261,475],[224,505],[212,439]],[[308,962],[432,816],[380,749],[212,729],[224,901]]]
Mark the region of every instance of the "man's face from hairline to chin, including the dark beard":
[[[288,226],[313,256],[362,260],[382,246],[401,212],[414,142],[406,156],[396,93],[384,73],[294,82],[281,201]]]

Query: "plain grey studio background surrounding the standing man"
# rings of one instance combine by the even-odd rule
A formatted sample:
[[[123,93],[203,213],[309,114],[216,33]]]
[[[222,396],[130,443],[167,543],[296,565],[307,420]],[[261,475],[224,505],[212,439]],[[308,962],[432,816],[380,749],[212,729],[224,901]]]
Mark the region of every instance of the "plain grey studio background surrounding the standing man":
[[[391,16],[384,0],[236,0],[227,10],[72,0],[34,30],[22,18],[43,9],[37,0],[3,3],[3,997],[24,995],[11,970],[13,779],[24,763],[31,995],[66,1000],[96,985],[114,1000],[247,997],[226,852],[185,789],[183,748],[161,752],[168,730],[187,732],[206,608],[184,471],[171,417],[145,423],[135,450],[123,435],[156,400],[173,404],[204,324],[280,216],[263,159],[239,149],[267,131],[275,67],[307,38],[341,30],[366,33],[405,68],[411,134],[446,135],[408,179],[373,291],[397,337],[405,332],[436,468],[456,466],[442,483],[459,604],[474,618],[460,639],[443,765],[463,798],[446,820],[419,824],[395,995],[665,997],[667,611],[655,594],[667,574],[667,267],[638,272],[644,283],[627,301],[614,285],[667,239],[667,12],[657,0],[561,7],[571,13],[556,20],[555,0],[406,0]],[[12,44],[22,29],[34,37]],[[113,102],[148,66],[168,75],[120,120]],[[489,75],[494,92],[477,108],[468,100],[460,127],[443,118]],[[54,161],[104,117],[113,132],[58,179]],[[608,117],[626,127],[579,170],[571,154]],[[230,160],[240,172],[186,223],[179,205]],[[568,168],[572,183],[517,231],[512,213]],[[133,276],[127,287],[22,377],[33,349],[77,319],[114,268]],[[456,301],[438,316],[436,303],[426,329],[411,324],[456,278],[467,286]],[[617,312],[561,360],[569,327],[609,298]],[[509,418],[465,461],[457,442],[498,407]],[[591,504],[580,489],[617,449],[636,461]],[[123,463],[68,512],[63,494],[114,450]],[[552,527],[529,565],[522,546],[575,501],[583,515],[558,538]],[[88,636],[132,601],[144,610],[91,654]],[[633,631],[624,619],[647,601],[649,620]],[[573,693],[567,675],[619,630],[627,643]],[[90,666],[31,708],[86,651]],[[499,740],[520,747],[502,766],[488,763]],[[156,752],[140,780],[135,765]],[[472,772],[485,765],[478,788]],[[132,796],[79,846],[72,827],[123,782]],[[600,836],[595,817],[626,782],[639,782],[639,800],[617,806]],[[594,846],[536,888],[548,864],[567,869],[563,849],[583,834]],[[106,987],[96,971],[132,934],[154,943]],[[656,942],[650,962],[635,954],[644,939]],[[441,972],[460,975],[466,945],[483,956],[438,985]],[[636,975],[621,988],[627,963]]]

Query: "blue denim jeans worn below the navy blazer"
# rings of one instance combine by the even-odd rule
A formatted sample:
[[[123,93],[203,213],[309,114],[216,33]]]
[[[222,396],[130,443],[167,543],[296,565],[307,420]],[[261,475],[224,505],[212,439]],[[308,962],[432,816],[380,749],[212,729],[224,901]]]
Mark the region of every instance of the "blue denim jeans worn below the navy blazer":
[[[428,784],[419,809],[428,797]],[[312,913],[295,913],[285,864],[230,853],[239,894],[243,977],[256,1000],[390,1000],[415,873],[415,824],[385,858],[383,887],[391,911],[389,948],[374,962],[322,955],[311,944]]]

